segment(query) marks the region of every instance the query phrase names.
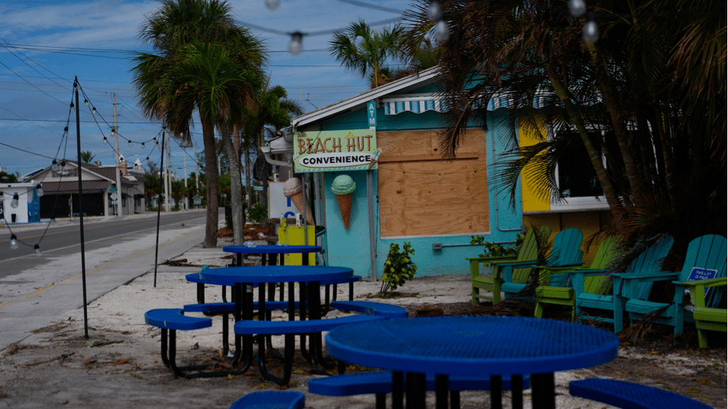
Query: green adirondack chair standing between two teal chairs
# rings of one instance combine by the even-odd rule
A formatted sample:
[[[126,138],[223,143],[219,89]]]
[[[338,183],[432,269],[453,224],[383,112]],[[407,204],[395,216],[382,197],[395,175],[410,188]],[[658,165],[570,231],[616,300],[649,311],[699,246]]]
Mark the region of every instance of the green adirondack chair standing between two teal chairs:
[[[620,254],[622,237],[607,237],[599,245],[590,266],[584,267],[553,267],[544,266],[539,270],[539,286],[536,288],[536,310],[534,317],[543,317],[544,304],[558,304],[571,306],[571,319],[577,314],[576,294],[571,285],[574,270],[601,271]],[[555,279],[555,277],[558,277]],[[587,276],[584,278],[584,290],[587,293],[608,294],[612,291],[612,279],[608,275]]]

